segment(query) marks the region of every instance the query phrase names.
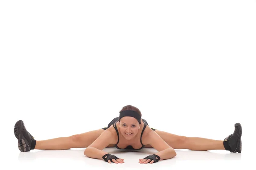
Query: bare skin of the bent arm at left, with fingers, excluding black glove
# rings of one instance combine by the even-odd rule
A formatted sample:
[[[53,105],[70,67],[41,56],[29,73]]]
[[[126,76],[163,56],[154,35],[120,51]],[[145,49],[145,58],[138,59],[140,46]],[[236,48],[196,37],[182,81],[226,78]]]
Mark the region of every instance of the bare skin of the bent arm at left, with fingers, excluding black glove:
[[[113,144],[113,134],[109,130],[105,130],[102,134],[84,150],[84,155],[90,158],[102,159],[107,152],[103,151],[109,144]],[[123,163],[122,160],[114,160],[115,163]]]

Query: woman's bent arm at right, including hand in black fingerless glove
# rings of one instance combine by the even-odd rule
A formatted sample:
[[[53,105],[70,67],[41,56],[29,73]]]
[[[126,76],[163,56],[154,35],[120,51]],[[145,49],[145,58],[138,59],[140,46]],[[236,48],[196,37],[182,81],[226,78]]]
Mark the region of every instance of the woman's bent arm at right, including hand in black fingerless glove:
[[[139,159],[139,163],[154,163],[160,159],[171,159],[177,155],[175,150],[154,131],[147,134],[146,141],[147,144],[150,144],[158,152],[144,159]]]

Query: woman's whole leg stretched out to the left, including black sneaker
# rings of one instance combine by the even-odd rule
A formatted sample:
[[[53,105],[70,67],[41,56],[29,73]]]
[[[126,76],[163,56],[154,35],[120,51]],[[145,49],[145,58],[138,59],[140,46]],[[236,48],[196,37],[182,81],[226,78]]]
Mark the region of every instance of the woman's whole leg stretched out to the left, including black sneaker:
[[[102,132],[104,132],[104,130],[99,129],[68,137],[36,141],[26,130],[22,120],[17,121],[14,128],[15,136],[18,139],[18,147],[21,152],[27,152],[32,149],[65,150],[70,148],[88,147],[101,135]],[[108,147],[114,146],[110,144]]]

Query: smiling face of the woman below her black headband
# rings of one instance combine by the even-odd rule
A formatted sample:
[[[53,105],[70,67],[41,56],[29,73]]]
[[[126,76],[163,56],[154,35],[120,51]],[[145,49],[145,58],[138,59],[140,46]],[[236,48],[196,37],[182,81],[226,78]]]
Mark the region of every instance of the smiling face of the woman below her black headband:
[[[140,124],[134,117],[125,116],[120,119],[120,131],[127,140],[133,139],[140,129]]]

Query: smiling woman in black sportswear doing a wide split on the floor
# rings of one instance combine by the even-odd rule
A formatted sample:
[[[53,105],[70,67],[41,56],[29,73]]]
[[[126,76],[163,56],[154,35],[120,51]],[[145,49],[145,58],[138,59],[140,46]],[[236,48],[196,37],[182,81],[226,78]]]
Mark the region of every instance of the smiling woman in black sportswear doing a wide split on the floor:
[[[33,149],[64,150],[70,148],[87,147],[84,155],[95,159],[104,159],[106,162],[123,163],[120,159],[103,149],[116,147],[118,149],[141,150],[143,147],[153,147],[158,152],[140,159],[139,163],[155,163],[160,159],[170,159],[176,156],[175,149],[189,150],[229,150],[241,153],[242,128],[240,123],[235,124],[233,134],[222,140],[212,140],[199,137],[178,136],[168,132],[156,130],[148,126],[145,119],[141,119],[138,108],[127,105],[119,112],[108,127],[76,134],[69,137],[59,137],[43,141],[36,141],[26,130],[22,120],[15,124],[14,133],[18,139],[18,148],[21,152]]]

